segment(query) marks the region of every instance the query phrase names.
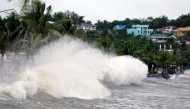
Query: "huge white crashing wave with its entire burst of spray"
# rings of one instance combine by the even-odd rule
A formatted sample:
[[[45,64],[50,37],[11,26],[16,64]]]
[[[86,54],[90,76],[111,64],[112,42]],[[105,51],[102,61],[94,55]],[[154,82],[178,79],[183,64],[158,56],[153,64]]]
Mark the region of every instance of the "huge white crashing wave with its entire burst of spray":
[[[116,85],[140,83],[147,66],[131,56],[114,56],[79,39],[64,37],[34,57],[33,67],[21,79],[1,87],[0,92],[26,99],[38,91],[54,97],[103,99],[110,95],[101,81]]]

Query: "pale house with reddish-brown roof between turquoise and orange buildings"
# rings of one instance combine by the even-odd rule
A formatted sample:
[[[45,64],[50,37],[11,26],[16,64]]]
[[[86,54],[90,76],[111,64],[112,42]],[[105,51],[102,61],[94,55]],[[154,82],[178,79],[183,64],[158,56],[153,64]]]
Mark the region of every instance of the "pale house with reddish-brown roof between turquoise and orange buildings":
[[[164,28],[160,28],[160,29],[156,29],[155,31],[158,32],[162,32],[164,34],[173,34],[173,30],[177,29],[177,27],[175,26],[166,26]]]

